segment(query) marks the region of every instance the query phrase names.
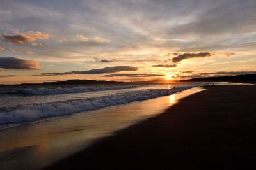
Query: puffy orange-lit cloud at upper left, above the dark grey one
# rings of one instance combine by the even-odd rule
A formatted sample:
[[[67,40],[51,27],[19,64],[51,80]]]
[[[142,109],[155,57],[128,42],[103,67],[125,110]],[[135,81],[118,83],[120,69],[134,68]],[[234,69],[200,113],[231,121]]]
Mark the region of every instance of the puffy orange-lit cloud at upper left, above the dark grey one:
[[[7,43],[12,43],[15,45],[24,45],[26,43],[36,41],[36,39],[48,39],[49,34],[43,34],[39,31],[28,31],[26,34],[4,34],[2,37],[3,41],[6,41]]]

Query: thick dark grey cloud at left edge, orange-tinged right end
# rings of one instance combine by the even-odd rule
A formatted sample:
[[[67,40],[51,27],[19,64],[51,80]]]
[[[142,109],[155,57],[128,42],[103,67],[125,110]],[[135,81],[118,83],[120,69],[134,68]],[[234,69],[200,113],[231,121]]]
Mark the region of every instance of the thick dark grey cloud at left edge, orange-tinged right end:
[[[1,57],[0,68],[2,69],[40,69],[40,64],[35,60],[27,60],[19,57]]]

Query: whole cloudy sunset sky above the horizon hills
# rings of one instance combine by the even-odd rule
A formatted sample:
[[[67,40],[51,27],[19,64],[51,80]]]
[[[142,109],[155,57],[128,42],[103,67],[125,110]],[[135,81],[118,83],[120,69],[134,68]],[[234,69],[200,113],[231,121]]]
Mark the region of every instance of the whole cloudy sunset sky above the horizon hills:
[[[255,0],[0,0],[0,84],[256,73]]]

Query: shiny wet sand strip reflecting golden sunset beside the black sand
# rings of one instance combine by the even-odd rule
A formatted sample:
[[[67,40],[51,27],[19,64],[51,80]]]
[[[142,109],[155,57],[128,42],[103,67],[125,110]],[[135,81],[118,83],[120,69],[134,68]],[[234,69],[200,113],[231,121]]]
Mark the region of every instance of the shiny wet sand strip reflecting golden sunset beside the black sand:
[[[204,89],[195,87],[170,96],[3,129],[0,169],[42,169],[120,129],[161,114],[181,98],[201,90]]]

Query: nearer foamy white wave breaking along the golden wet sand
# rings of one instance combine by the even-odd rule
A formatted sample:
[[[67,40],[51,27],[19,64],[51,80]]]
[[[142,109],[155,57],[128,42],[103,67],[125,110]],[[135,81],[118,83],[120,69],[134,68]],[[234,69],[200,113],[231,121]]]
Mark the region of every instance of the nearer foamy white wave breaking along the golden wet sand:
[[[0,124],[22,124],[39,119],[69,115],[81,111],[97,110],[107,106],[143,101],[161,96],[167,96],[196,86],[178,87],[173,89],[138,90],[119,93],[104,97],[92,97],[51,103],[27,104],[0,108]]]

